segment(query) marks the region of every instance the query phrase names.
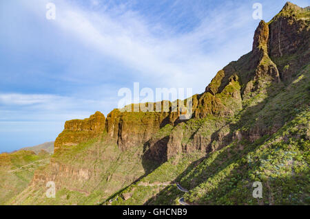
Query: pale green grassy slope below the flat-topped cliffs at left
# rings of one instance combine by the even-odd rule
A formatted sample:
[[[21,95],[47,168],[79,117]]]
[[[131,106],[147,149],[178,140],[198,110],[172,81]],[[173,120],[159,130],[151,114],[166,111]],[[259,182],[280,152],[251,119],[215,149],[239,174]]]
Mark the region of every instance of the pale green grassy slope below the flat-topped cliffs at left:
[[[143,146],[122,152],[113,139],[92,139],[68,152],[56,152],[39,176],[55,181],[56,198],[46,198],[45,183],[37,182],[10,200],[14,205],[96,205],[145,175],[149,161],[142,161]],[[60,168],[61,170],[59,170]],[[61,172],[65,170],[65,172]],[[81,171],[84,171],[84,175]]]

